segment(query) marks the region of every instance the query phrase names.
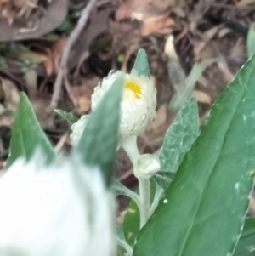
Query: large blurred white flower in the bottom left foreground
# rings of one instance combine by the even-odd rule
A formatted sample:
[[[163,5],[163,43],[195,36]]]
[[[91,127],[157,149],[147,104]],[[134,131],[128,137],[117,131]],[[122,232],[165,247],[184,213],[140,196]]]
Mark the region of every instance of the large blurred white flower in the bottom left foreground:
[[[114,211],[99,169],[78,157],[18,160],[0,177],[0,255],[116,255]]]

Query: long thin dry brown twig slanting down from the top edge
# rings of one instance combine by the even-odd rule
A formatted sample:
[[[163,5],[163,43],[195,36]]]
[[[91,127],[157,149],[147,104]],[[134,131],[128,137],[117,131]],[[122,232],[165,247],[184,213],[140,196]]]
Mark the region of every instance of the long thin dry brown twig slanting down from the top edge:
[[[76,28],[71,32],[71,35],[65,44],[65,48],[64,48],[62,58],[60,61],[59,73],[58,73],[56,81],[54,82],[54,94],[52,96],[51,103],[48,107],[48,112],[53,111],[54,108],[56,108],[58,105],[60,93],[61,93],[61,86],[62,86],[63,78],[65,76],[67,60],[68,60],[68,57],[69,57],[69,54],[71,51],[71,47],[77,41],[77,38],[79,37],[79,35],[82,32],[82,29],[86,25],[89,14],[92,11],[92,9],[94,8],[94,5],[96,2],[97,2],[97,0],[89,1],[86,8],[82,11],[81,18],[78,21]]]

